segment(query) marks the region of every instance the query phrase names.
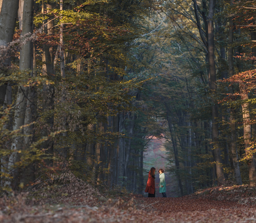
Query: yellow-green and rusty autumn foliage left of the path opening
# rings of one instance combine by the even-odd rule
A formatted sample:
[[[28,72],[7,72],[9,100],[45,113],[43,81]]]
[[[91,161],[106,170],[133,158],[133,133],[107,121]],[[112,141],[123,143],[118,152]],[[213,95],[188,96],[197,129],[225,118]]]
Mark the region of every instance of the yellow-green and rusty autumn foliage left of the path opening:
[[[53,9],[42,12],[41,9],[46,10],[47,4],[51,4]],[[132,42],[142,33],[135,21],[146,15],[149,4],[149,1],[65,0],[63,10],[60,10],[59,1],[36,1],[33,43],[37,67],[33,71],[37,71],[38,76],[31,77],[30,70],[18,71],[19,55],[16,52],[12,57],[14,69],[7,75],[5,73],[0,76],[1,83],[12,84],[14,99],[16,86],[28,87],[29,90],[36,88],[37,96],[33,104],[36,113],[30,118],[30,124],[12,132],[8,129],[11,129],[13,123],[8,128],[6,123],[12,120],[13,114],[8,113],[3,117],[5,120],[2,119],[5,122],[3,126],[6,127],[1,128],[6,143],[17,138],[22,141],[26,137],[30,137],[32,142],[22,150],[11,150],[10,143],[1,150],[1,158],[19,153],[15,165],[4,169],[6,172],[2,174],[11,178],[11,169],[19,169],[21,174],[18,174],[18,180],[22,181],[24,168],[29,168],[31,164],[36,167],[36,174],[58,169],[61,165],[67,166],[77,177],[91,182],[94,182],[99,173],[106,176],[113,174],[106,167],[106,160],[97,160],[94,150],[96,144],[101,144],[101,150],[109,154],[107,149],[115,150],[119,138],[129,138],[125,135],[126,131],[119,133],[114,123],[110,123],[110,126],[107,124],[110,117],[117,119],[120,113],[138,112],[140,106],[134,103],[136,97],[132,92],[140,91],[142,85],[151,78],[131,78],[127,75]],[[51,25],[50,21],[53,28],[49,35],[44,24],[48,22]],[[64,25],[63,45],[60,45],[61,24]],[[23,46],[19,41],[19,33],[17,31],[15,34],[15,47]],[[57,47],[65,51],[65,78],[61,76]],[[53,74],[47,70],[53,61],[44,61],[46,48],[50,48],[52,59],[55,56]],[[42,66],[46,66],[44,72]],[[47,75],[45,71],[48,72]],[[50,95],[46,95],[49,94],[46,92],[48,88],[54,93],[51,99]],[[47,103],[49,108],[45,107],[48,106]],[[5,110],[1,111],[4,113]],[[53,121],[49,123],[51,119]],[[104,129],[100,127],[101,123]],[[143,123],[146,123],[145,117]],[[31,126],[31,135],[22,134],[23,128]],[[138,133],[139,140],[145,134]],[[54,144],[53,152],[51,143]],[[88,145],[92,145],[93,151],[87,151]],[[86,151],[82,151],[80,147]],[[138,158],[138,151],[142,149],[143,147],[136,147],[136,152],[131,152],[132,156]],[[90,157],[93,157],[93,163],[89,165]],[[8,158],[6,162],[8,163]],[[5,165],[3,161],[1,164]],[[46,168],[39,169],[40,165],[45,165]],[[128,167],[138,172],[137,167],[131,164]],[[3,178],[1,183],[4,183]],[[20,186],[26,189],[29,184],[24,185],[21,182]]]

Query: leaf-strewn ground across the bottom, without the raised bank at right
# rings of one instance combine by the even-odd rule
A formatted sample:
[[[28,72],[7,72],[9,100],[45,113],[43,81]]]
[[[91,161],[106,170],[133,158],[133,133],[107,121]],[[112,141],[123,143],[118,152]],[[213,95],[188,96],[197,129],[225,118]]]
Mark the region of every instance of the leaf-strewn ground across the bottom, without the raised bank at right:
[[[18,205],[9,213],[0,210],[1,223],[252,223],[256,222],[255,206],[205,198],[135,197],[122,202],[113,200],[102,206]]]

